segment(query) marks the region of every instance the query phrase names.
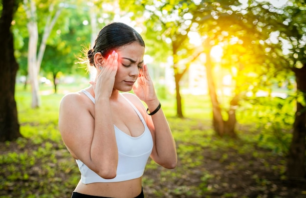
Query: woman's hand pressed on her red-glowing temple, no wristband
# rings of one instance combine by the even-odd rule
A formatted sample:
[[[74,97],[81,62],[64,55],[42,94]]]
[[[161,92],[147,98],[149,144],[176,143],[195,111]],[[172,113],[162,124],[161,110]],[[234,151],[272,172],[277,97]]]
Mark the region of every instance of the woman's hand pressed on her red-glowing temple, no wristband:
[[[102,69],[97,68],[98,73],[96,81],[91,81],[90,84],[93,86],[95,92],[95,99],[99,97],[108,97],[110,98],[114,83],[115,76],[118,69],[118,53],[112,51],[109,54],[105,64],[103,64]]]

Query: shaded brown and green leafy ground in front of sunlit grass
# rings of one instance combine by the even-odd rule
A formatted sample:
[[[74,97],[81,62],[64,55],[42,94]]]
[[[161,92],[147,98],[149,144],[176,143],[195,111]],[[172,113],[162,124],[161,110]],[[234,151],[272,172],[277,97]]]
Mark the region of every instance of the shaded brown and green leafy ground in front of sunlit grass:
[[[191,130],[186,135],[179,130],[186,122],[175,124],[177,167],[167,170],[149,159],[143,178],[146,198],[306,198],[305,179],[285,178],[282,154],[260,148],[256,141],[220,139],[201,122],[187,124]],[[50,193],[68,198],[79,179],[61,141],[0,143],[0,156],[0,198],[44,198]]]

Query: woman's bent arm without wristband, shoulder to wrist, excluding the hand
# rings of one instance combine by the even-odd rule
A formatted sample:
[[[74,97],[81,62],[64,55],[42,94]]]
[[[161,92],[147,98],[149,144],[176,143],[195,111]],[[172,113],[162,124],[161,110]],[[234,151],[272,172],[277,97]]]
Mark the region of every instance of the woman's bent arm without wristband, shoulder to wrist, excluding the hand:
[[[94,115],[82,93],[66,95],[60,105],[59,130],[76,159],[103,178],[116,176],[118,151],[109,102],[96,101]]]

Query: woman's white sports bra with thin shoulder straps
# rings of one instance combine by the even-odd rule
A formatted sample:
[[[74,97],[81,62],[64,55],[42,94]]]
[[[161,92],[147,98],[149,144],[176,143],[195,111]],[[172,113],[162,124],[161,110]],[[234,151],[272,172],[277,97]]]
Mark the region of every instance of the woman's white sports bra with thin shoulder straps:
[[[82,92],[93,103],[95,102],[93,96],[88,91],[82,90]],[[139,110],[127,98],[125,99],[131,104],[131,107],[139,116],[145,127],[145,131],[137,137],[132,137],[114,125],[118,147],[117,176],[112,179],[104,179],[90,170],[81,160],[77,159],[76,162],[81,172],[81,181],[84,184],[126,181],[138,178],[144,173],[146,163],[153,149],[152,135]]]

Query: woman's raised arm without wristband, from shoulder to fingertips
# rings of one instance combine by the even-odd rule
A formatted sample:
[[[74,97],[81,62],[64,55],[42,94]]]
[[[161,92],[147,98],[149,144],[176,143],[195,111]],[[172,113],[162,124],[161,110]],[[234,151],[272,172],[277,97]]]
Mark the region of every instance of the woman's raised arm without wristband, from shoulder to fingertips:
[[[96,53],[94,59],[97,63],[102,61],[101,53]],[[60,106],[59,129],[68,150],[106,179],[116,176],[118,165],[118,148],[109,103],[117,68],[118,54],[113,52],[99,71],[96,82],[91,82],[95,93],[94,110],[91,103],[93,112],[90,113],[87,103],[91,101],[80,93],[66,95]]]

